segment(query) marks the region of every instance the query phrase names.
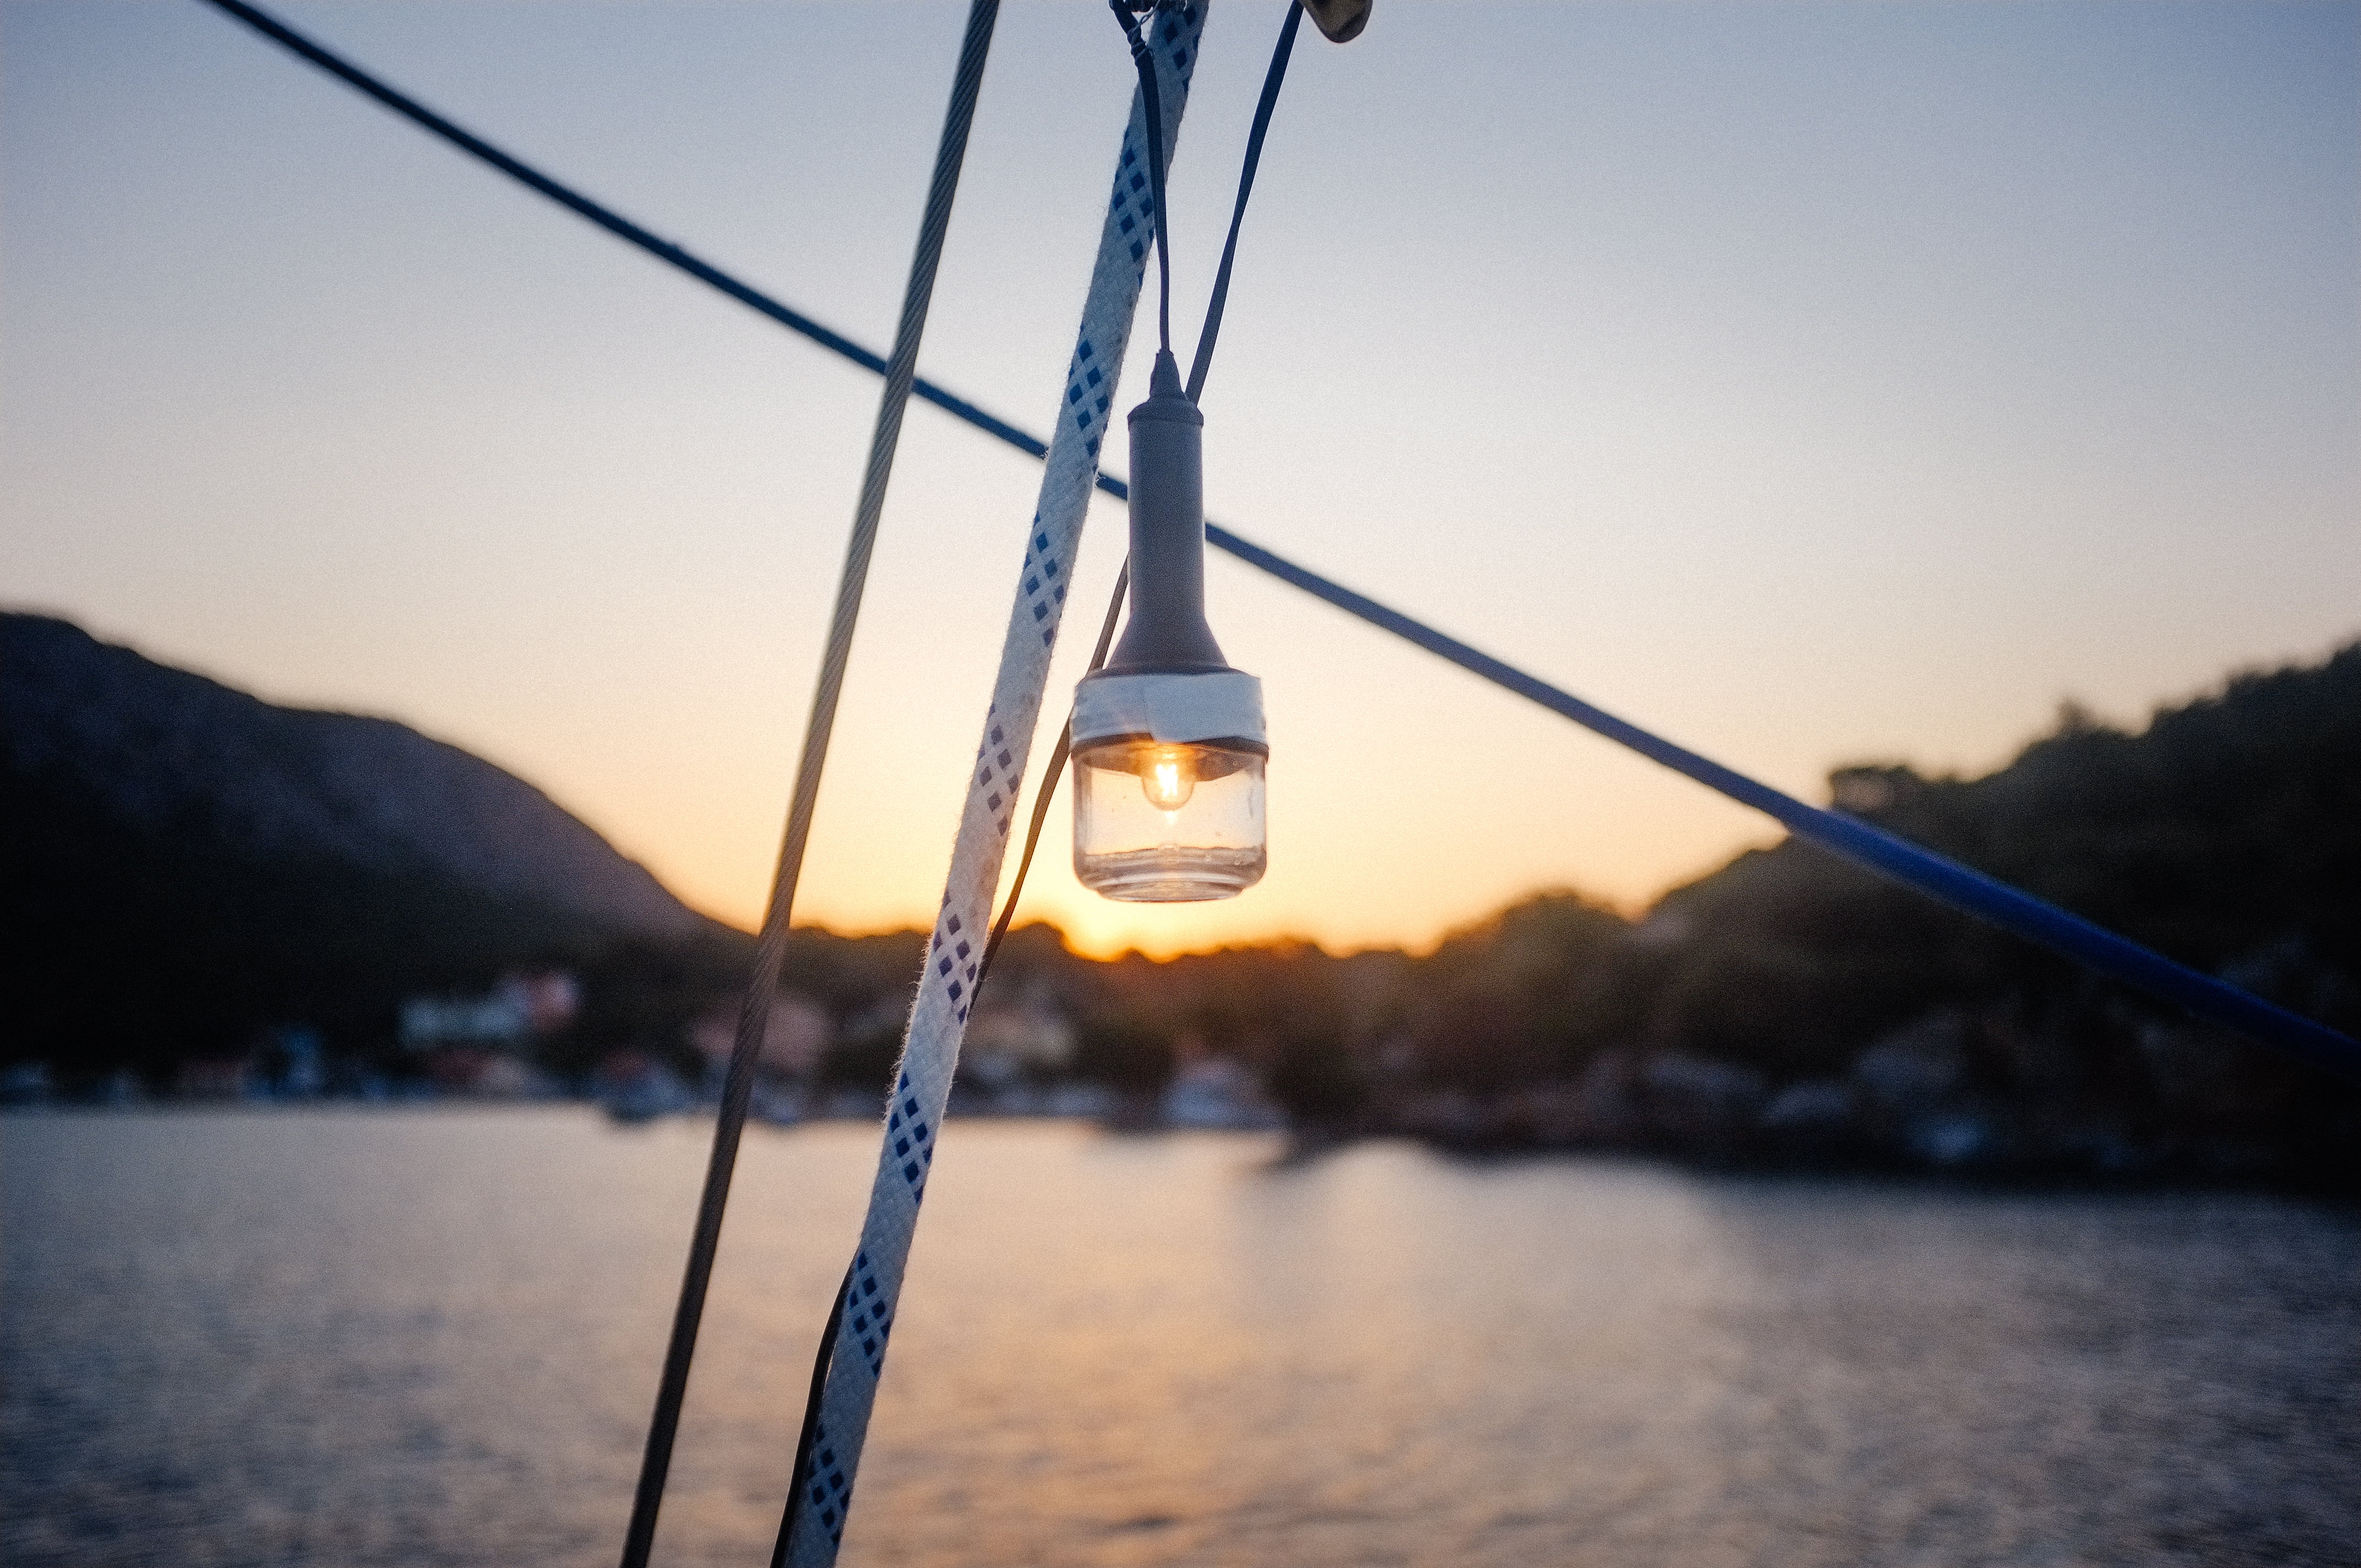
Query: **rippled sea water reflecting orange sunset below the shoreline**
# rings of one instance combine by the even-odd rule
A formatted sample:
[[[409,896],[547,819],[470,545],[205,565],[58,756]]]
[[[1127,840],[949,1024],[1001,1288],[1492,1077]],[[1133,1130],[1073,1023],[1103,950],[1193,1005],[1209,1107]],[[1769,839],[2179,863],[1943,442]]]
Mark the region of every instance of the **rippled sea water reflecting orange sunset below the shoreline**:
[[[0,1556],[614,1563],[708,1129],[0,1119]],[[876,1136],[753,1133],[659,1563]],[[2361,1563],[2361,1214],[947,1129],[850,1566]]]

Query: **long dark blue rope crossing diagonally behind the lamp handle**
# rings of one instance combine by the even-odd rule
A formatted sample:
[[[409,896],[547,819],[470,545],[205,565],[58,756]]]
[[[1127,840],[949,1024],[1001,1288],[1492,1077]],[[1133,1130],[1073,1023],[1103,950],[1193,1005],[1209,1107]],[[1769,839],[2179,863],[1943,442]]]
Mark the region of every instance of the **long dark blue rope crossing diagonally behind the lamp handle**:
[[[411,118],[413,123],[423,125],[437,137],[451,142],[460,151],[482,158],[503,175],[510,175],[512,179],[519,179],[531,189],[541,191],[550,201],[557,201],[560,205],[588,217],[609,234],[626,239],[633,246],[640,246],[649,255],[671,262],[673,267],[680,267],[692,279],[722,290],[732,300],[748,305],[751,309],[758,309],[779,326],[786,326],[789,331],[803,333],[812,342],[836,354],[843,354],[857,366],[864,366],[876,373],[885,371],[883,354],[866,349],[859,342],[852,342],[843,333],[812,321],[803,312],[789,309],[786,305],[772,300],[770,295],[732,279],[722,269],[701,262],[680,246],[666,239],[656,239],[640,224],[597,205],[595,201],[581,196],[578,191],[557,184],[548,175],[508,156],[498,146],[491,146],[482,137],[460,130],[458,125],[425,109],[416,99],[397,92],[394,87],[387,87],[378,78],[361,71],[359,66],[338,59],[335,54],[302,38],[281,21],[257,12],[253,5],[243,5],[243,0],[210,0],[210,2],[229,12],[238,21],[248,24],[250,28],[264,33],[267,38],[286,45],[295,54],[302,54],[323,71],[352,83],[368,97]],[[1008,420],[987,413],[975,404],[970,404],[968,399],[944,392],[942,387],[923,378],[914,385],[914,392],[916,397],[935,404],[951,418],[966,420],[968,425],[975,425],[985,435],[992,435],[1027,456],[1041,458],[1048,453],[1048,446],[1039,437],[1027,435],[1025,430],[1011,425]],[[1105,472],[1098,475],[1098,489],[1114,496],[1117,501],[1129,501],[1131,496],[1129,486],[1121,479]],[[1981,921],[1990,921],[2002,930],[2012,930],[2030,942],[2038,942],[2052,952],[2073,959],[2075,963],[2082,963],[2085,968],[2108,975],[2111,980],[2123,980],[2125,985],[2139,987],[2151,997],[2170,1001],[2196,1018],[2219,1023],[2229,1030],[2236,1030],[2238,1034],[2245,1034],[2248,1039],[2262,1041],[2267,1046],[2278,1046],[2281,1051],[2288,1051],[2307,1063],[2328,1067],[2330,1072],[2340,1072],[2349,1079],[2361,1082],[2361,1041],[2354,1041],[2352,1037],[2340,1034],[2328,1025],[2314,1023],[2309,1018],[2290,1013],[2288,1008],[2274,1006],[2262,997],[2243,992],[2224,980],[2215,980],[2212,975],[2198,973],[2186,963],[2174,963],[2172,959],[2151,952],[2139,942],[2120,937],[2113,930],[2106,930],[2104,926],[2094,926],[2078,914],[2068,914],[2066,909],[2038,900],[2030,893],[2021,893],[2004,881],[1986,876],[1983,871],[1971,871],[1969,867],[1962,867],[1957,860],[1948,860],[1943,855],[1936,855],[1934,850],[1924,850],[1910,843],[1908,838],[1896,838],[1894,834],[1870,827],[1858,817],[1825,812],[1816,805],[1804,805],[1794,796],[1780,793],[1768,784],[1757,784],[1742,772],[1733,772],[1721,763],[1702,758],[1695,751],[1688,751],[1686,746],[1674,746],[1672,741],[1660,739],[1629,720],[1594,708],[1591,704],[1582,701],[1570,692],[1561,692],[1546,680],[1528,675],[1516,666],[1502,664],[1492,654],[1483,654],[1469,647],[1466,642],[1459,642],[1457,638],[1447,638],[1433,626],[1412,621],[1402,612],[1388,609],[1386,605],[1379,605],[1376,600],[1362,593],[1353,593],[1341,583],[1332,583],[1317,571],[1310,571],[1280,555],[1273,555],[1270,550],[1249,543],[1223,527],[1209,522],[1204,529],[1204,538],[1216,550],[1228,550],[1237,560],[1247,562],[1249,567],[1261,567],[1282,583],[1291,583],[1317,600],[1327,600],[1329,605],[1343,609],[1346,614],[1360,616],[1372,626],[1391,631],[1393,635],[1414,642],[1417,647],[1424,647],[1431,654],[1450,659],[1459,668],[1473,675],[1483,675],[1485,680],[1506,687],[1518,697],[1537,701],[1551,713],[1570,718],[1577,725],[1596,734],[1603,734],[1620,746],[1629,746],[1631,751],[1639,751],[1641,756],[1662,763],[1665,767],[1672,767],[1674,772],[1686,775],[1698,784],[1705,784],[1707,789],[1714,789],[1742,805],[1752,805],[1754,810],[1775,817],[1794,836],[1809,838],[1811,843],[1818,843],[1825,850],[1844,855],[1853,864],[1868,867],[1879,876],[1891,876],[1905,888],[1915,888],[1917,893],[1924,893],[1936,902],[1950,904],[1953,909],[1971,914]]]

